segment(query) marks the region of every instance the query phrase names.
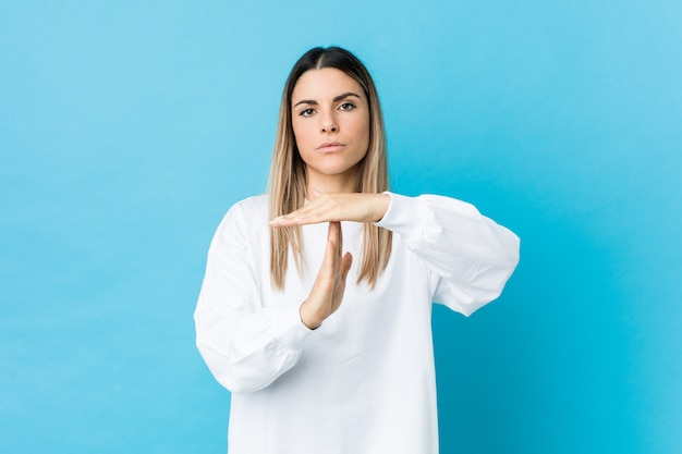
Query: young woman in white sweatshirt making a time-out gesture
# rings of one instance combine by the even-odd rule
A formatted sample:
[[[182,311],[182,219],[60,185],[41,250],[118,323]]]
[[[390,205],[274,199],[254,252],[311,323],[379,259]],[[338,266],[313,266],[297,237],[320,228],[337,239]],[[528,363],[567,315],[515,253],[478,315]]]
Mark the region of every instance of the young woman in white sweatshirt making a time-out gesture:
[[[431,302],[495,299],[519,238],[473,206],[389,193],[365,66],[315,48],[282,96],[269,194],[208,253],[197,346],[232,392],[230,454],[438,452]]]

